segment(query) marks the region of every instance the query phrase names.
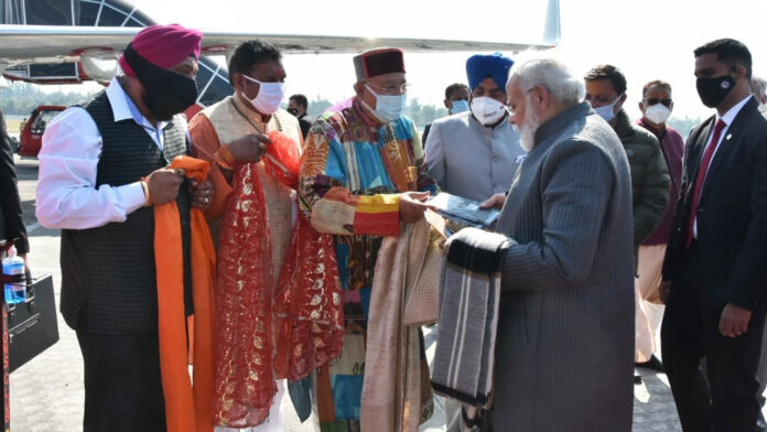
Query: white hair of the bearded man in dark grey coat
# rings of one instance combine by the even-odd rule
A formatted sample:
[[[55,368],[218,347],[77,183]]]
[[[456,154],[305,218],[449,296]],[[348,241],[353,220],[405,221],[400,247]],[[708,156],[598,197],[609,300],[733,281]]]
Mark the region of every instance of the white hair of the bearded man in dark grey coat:
[[[522,91],[542,86],[554,99],[570,106],[583,100],[585,95],[583,80],[575,77],[564,63],[554,58],[536,58],[516,64],[508,83],[515,78],[519,80]]]

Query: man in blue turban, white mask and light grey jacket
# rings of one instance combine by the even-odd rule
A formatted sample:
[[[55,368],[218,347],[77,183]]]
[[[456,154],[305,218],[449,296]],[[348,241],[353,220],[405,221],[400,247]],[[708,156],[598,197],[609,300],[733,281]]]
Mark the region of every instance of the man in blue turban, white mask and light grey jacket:
[[[429,174],[442,191],[480,202],[511,185],[525,153],[504,109],[512,64],[500,53],[466,61],[471,110],[435,120],[425,142]]]

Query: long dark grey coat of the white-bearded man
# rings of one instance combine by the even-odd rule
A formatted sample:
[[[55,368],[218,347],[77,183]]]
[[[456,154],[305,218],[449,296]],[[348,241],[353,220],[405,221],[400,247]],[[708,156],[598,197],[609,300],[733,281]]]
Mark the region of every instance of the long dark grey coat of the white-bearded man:
[[[623,432],[634,400],[631,184],[587,102],[542,125],[496,230],[506,255],[497,431]]]

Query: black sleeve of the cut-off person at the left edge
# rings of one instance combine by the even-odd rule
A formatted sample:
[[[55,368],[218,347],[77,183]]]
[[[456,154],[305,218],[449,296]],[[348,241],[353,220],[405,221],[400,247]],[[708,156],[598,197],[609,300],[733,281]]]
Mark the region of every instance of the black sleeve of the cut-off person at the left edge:
[[[11,140],[6,131],[6,118],[2,111],[0,111],[0,229],[2,229],[0,238],[17,239],[17,251],[19,253],[29,252],[30,245],[26,239],[15,165],[13,164],[13,149],[11,149]]]

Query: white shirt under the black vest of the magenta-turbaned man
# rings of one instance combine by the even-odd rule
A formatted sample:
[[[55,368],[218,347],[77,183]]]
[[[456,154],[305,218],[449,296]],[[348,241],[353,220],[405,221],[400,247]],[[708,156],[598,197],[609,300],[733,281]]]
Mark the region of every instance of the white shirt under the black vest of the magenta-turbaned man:
[[[107,87],[107,98],[115,121],[132,119],[143,127],[160,151],[164,128],[155,128],[141,115],[117,78]],[[183,122],[186,128],[186,122]],[[187,133],[187,132],[186,132]],[[58,115],[43,134],[37,155],[40,171],[35,216],[47,228],[86,229],[111,222],[125,222],[144,202],[141,182],[96,188],[96,174],[101,155],[101,133],[90,115],[82,107],[71,107]]]

